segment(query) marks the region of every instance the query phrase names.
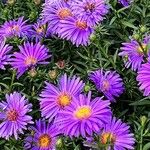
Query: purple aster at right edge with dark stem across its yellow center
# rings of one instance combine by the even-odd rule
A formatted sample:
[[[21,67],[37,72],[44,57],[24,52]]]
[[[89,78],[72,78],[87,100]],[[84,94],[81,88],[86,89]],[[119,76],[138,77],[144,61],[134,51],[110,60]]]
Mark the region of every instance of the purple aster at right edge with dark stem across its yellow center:
[[[125,67],[131,67],[133,71],[138,70],[144,62],[144,59],[149,55],[149,44],[150,39],[148,37],[146,37],[142,43],[135,40],[131,40],[131,42],[128,43],[122,43],[122,52],[119,53],[119,56],[123,57]]]

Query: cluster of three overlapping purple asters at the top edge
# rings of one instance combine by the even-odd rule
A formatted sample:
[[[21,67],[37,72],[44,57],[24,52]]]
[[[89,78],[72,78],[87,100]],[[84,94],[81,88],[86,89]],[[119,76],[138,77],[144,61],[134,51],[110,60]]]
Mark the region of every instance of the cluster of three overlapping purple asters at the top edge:
[[[52,33],[76,46],[86,46],[94,27],[107,13],[106,0],[54,0],[45,2],[42,19]]]

